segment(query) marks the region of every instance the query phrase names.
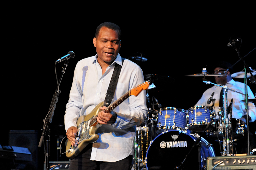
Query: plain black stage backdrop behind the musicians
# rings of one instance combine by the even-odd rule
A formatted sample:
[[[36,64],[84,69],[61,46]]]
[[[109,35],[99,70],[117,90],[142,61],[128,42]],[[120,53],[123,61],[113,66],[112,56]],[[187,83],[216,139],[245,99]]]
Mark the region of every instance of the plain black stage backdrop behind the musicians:
[[[79,60],[96,54],[92,40],[96,27],[102,22],[114,22],[121,27],[122,57],[142,53],[148,59],[137,62],[143,73],[165,77],[154,81],[157,89],[148,91],[150,100],[156,97],[163,107],[187,110],[196,104],[212,85],[203,83],[202,77],[185,75],[201,73],[202,68],[212,73],[211,63],[217,60],[235,64],[239,60],[236,50],[227,46],[232,37],[242,39],[241,57],[252,51],[244,60],[256,69],[255,18],[250,10],[235,12],[238,5],[237,8],[216,5],[215,9],[180,7],[179,10],[172,6],[169,12],[164,9],[141,11],[140,8],[125,12],[102,12],[102,9],[88,12],[72,10],[68,5],[56,12],[55,8],[48,7],[38,10],[40,5],[25,10],[18,6],[10,7],[2,15],[0,144],[8,145],[9,130],[33,130],[41,135],[43,119],[57,88],[54,62],[68,51],[75,52],[61,81],[61,93],[49,124],[53,145],[50,160],[66,160],[65,156],[58,158],[56,146],[57,138],[65,136],[65,105],[73,72]],[[56,65],[58,79],[63,66],[64,62]],[[235,72],[243,69],[242,61],[234,66]],[[214,82],[212,77],[207,79]],[[249,81],[248,85],[255,94],[256,85]],[[252,128],[255,131],[255,124]]]

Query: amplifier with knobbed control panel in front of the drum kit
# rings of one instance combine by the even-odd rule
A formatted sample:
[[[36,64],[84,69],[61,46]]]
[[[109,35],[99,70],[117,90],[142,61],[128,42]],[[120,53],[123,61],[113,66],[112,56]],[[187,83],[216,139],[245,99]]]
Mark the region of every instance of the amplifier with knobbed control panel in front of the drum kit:
[[[256,155],[208,157],[206,170],[256,170]]]

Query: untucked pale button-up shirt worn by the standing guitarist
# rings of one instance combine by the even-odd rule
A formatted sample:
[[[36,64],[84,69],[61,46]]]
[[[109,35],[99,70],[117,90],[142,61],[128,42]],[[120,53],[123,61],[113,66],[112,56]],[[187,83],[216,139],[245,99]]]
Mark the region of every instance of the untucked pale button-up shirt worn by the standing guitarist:
[[[66,130],[71,126],[77,126],[76,120],[79,116],[88,115],[104,101],[115,63],[122,65],[119,54],[103,75],[97,55],[84,58],[77,63],[66,105]],[[141,68],[125,59],[112,102],[143,82]],[[137,97],[130,96],[114,111],[117,113],[116,122],[113,125],[102,125],[96,131],[100,137],[93,143],[91,160],[115,162],[133,154],[136,125],[143,123],[147,115],[146,91],[142,90]]]

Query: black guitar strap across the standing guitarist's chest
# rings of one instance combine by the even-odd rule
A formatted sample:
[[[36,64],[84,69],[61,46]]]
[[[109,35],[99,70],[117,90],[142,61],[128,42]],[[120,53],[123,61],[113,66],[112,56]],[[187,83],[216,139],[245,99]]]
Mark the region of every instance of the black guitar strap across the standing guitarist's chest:
[[[124,63],[124,58],[122,57],[122,65]],[[104,100],[104,106],[108,107],[108,105],[111,103],[114,94],[115,94],[115,90],[116,90],[116,85],[117,85],[117,81],[121,72],[121,68],[122,66],[120,66],[119,64],[116,63],[115,68],[114,68],[114,72],[112,74],[109,86],[108,86],[108,91],[106,94],[106,98]]]

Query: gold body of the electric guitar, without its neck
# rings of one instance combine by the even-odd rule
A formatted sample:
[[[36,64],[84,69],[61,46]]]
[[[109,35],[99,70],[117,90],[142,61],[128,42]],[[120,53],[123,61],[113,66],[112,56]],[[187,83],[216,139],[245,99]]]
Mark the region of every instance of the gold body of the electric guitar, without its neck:
[[[77,155],[83,151],[83,149],[89,144],[89,143],[93,143],[95,141],[98,140],[99,135],[95,134],[96,130],[101,126],[100,124],[97,125],[97,123],[95,123],[96,125],[92,125],[92,126],[88,126],[88,122],[95,116],[98,115],[99,112],[101,112],[102,110],[100,110],[100,107],[103,106],[103,102],[101,102],[100,104],[98,104],[90,114],[86,115],[86,116],[80,116],[77,119],[76,125],[78,128],[78,137],[79,137],[79,144],[77,147],[72,146],[70,141],[68,140],[67,146],[66,146],[66,151],[70,149],[69,152],[66,152],[66,156],[69,159],[73,159],[76,158]],[[100,125],[100,126],[99,126]]]

